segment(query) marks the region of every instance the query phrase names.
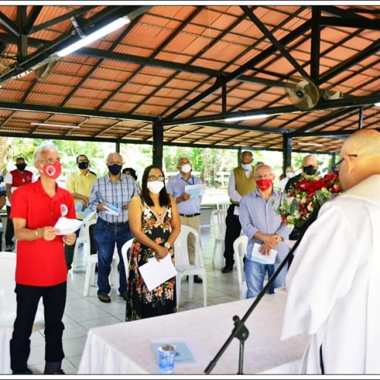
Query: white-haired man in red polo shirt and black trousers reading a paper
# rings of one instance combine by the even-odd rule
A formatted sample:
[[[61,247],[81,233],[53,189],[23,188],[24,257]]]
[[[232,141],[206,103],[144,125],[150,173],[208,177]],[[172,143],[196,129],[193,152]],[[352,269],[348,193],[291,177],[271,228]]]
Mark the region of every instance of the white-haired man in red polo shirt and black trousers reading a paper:
[[[58,235],[59,229],[53,226],[61,216],[75,219],[75,205],[73,196],[55,182],[61,173],[57,148],[50,144],[39,146],[34,162],[41,178],[12,194],[10,218],[17,238],[17,316],[10,341],[10,368],[13,374],[32,373],[27,365],[29,339],[42,297],[46,342],[44,374],[64,374],[61,370],[67,281],[64,243],[73,245],[76,236]]]

